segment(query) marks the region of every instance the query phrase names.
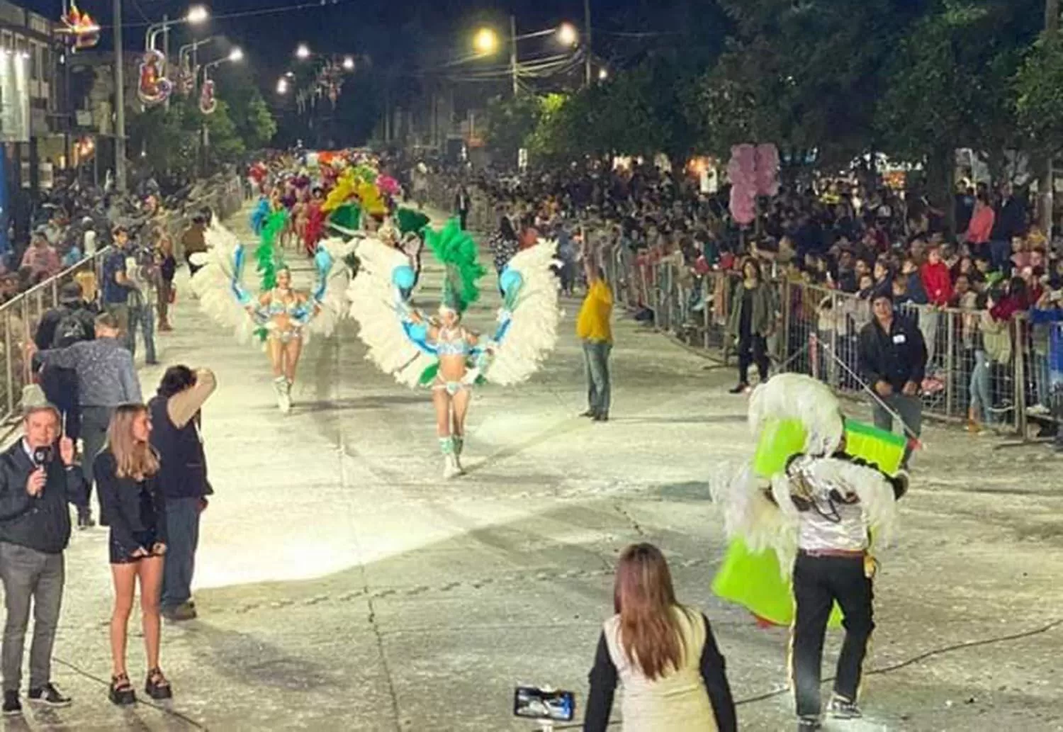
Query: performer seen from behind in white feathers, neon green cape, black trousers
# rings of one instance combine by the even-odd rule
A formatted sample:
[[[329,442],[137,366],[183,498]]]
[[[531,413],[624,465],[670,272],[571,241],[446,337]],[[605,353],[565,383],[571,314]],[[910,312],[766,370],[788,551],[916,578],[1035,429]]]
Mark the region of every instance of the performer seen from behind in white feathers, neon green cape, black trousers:
[[[829,388],[798,374],[758,387],[749,422],[756,457],[712,482],[732,540],[713,590],[759,617],[792,624],[797,729],[812,732],[821,729],[823,644],[836,605],[845,641],[828,714],[861,716],[857,696],[875,627],[872,550],[890,540],[896,500],[908,489],[899,470],[905,441],[844,421]]]

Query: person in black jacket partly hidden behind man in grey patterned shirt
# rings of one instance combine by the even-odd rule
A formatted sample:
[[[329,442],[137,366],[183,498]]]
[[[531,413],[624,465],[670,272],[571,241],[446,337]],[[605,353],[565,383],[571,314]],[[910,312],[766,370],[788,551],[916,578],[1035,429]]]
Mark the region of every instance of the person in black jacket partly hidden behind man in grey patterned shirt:
[[[38,351],[65,348],[78,341],[96,338],[96,316],[82,300],[81,285],[67,283],[60,290],[60,306],[40,318],[33,341]],[[40,388],[49,404],[60,410],[63,431],[74,443],[81,437],[81,409],[78,405],[78,372],[62,367],[40,370]]]

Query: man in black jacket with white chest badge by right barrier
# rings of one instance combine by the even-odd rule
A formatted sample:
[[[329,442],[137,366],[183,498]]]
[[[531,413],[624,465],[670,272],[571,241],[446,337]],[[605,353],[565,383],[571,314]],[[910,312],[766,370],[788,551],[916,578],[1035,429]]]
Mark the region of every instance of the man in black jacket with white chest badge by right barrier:
[[[874,318],[860,331],[860,370],[878,398],[875,426],[893,430],[893,412],[900,415],[907,437],[918,439],[923,430],[923,401],[919,388],[926,376],[927,346],[912,322],[893,309],[889,292],[872,299]],[[889,409],[888,409],[889,408]],[[905,449],[904,466],[911,457],[911,442]]]

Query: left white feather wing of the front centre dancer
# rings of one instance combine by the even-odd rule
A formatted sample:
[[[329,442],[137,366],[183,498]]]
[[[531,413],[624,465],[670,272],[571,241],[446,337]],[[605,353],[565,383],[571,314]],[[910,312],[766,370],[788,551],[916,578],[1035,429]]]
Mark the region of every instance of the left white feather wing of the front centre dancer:
[[[417,387],[435,358],[418,347],[403,327],[400,294],[391,275],[395,268],[408,267],[409,260],[377,239],[364,239],[356,252],[358,273],[347,297],[351,317],[358,323],[358,337],[369,347],[366,358],[400,384]]]

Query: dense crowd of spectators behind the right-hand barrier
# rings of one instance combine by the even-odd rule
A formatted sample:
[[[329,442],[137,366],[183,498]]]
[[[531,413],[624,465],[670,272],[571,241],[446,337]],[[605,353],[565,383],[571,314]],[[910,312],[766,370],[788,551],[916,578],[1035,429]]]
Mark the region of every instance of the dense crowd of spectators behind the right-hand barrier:
[[[523,241],[554,238],[562,288],[571,292],[579,273],[573,242],[598,237],[598,249],[621,272],[640,271],[648,280],[634,293],[636,318],[654,319],[648,294],[656,266],[671,263],[690,293],[687,312],[699,318],[711,307],[726,323],[732,309],[725,301],[732,300],[743,265],[753,259],[776,286],[777,299],[783,296],[780,283],[798,286],[787,291],[799,327],[790,328],[792,342],[772,353],[825,377],[834,355],[814,347],[809,353],[808,335],[819,334],[822,345],[825,336],[841,334],[837,358],[847,367],[840,369],[842,379],[859,368],[857,339],[871,322],[872,296],[885,292],[924,335],[928,367],[922,391],[955,389],[973,431],[1006,420],[1013,409],[1011,372],[1002,370],[1019,355],[1028,412],[1050,411],[1052,364],[1063,363],[1053,345],[1063,344],[1056,325],[1063,257],[1031,223],[1028,191],[963,181],[951,201],[935,202],[917,185],[901,191],[853,176],[821,177],[761,199],[757,224],[741,229],[728,210],[727,186],[707,192],[696,176],[673,176],[651,164],[522,173],[437,167],[435,180],[451,197],[462,191],[453,200],[455,210],[468,205],[468,191],[472,225],[487,229],[500,269]],[[735,275],[723,278],[728,286],[722,291],[721,272]],[[776,318],[781,311],[776,302]],[[737,331],[729,335],[741,341]],[[758,361],[760,339],[744,344],[742,361]]]

